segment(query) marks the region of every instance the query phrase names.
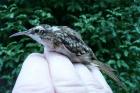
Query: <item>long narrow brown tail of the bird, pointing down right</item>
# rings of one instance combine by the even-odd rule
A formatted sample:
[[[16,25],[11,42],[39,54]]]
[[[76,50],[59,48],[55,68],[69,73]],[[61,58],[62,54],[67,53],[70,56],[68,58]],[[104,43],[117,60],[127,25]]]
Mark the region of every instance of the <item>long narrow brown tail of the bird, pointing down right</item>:
[[[122,87],[123,89],[125,89],[127,91],[126,86],[118,79],[118,77],[114,74],[114,69],[111,68],[110,66],[98,61],[98,60],[94,60],[93,61],[94,64],[97,64],[97,66],[99,67],[99,69],[105,73],[106,75],[108,75],[110,78],[112,78],[120,87]]]

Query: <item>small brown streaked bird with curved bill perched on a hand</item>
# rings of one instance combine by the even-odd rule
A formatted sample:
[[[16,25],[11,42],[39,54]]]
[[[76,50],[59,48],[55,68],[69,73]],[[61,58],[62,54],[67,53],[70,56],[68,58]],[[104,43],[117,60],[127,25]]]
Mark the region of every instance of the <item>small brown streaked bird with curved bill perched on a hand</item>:
[[[92,49],[83,41],[80,33],[68,26],[51,26],[41,24],[17,32],[10,37],[26,35],[42,44],[50,52],[56,52],[69,58],[72,63],[82,63],[89,69],[97,66],[103,73],[112,78],[120,87],[126,90],[124,84],[114,74],[114,69],[99,61]]]

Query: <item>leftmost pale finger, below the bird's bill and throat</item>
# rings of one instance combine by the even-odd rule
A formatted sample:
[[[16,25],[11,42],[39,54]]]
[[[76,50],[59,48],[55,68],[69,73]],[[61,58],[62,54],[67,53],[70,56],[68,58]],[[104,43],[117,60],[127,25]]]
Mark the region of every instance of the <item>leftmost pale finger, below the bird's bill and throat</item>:
[[[43,55],[33,53],[26,58],[12,93],[54,93]]]

